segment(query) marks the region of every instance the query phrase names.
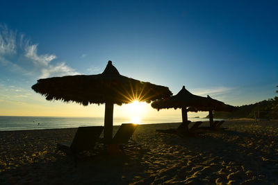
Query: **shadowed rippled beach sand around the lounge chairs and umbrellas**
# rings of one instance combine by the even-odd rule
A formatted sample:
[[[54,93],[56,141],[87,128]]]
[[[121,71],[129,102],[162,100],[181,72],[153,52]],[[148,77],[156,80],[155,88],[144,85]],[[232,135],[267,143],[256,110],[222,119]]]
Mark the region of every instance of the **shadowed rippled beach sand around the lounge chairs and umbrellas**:
[[[278,121],[225,121],[227,130],[187,138],[155,131],[179,124],[139,125],[133,139],[142,150],[77,167],[56,152],[76,128],[0,132],[0,184],[278,184]]]

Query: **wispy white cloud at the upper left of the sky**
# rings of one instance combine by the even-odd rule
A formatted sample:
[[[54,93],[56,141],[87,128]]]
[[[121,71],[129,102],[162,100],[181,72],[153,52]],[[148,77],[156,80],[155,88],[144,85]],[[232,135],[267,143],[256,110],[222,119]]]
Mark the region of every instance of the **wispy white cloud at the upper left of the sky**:
[[[54,61],[56,58],[54,54],[38,54],[38,44],[0,25],[0,65],[11,72],[35,78],[79,74],[65,62]]]

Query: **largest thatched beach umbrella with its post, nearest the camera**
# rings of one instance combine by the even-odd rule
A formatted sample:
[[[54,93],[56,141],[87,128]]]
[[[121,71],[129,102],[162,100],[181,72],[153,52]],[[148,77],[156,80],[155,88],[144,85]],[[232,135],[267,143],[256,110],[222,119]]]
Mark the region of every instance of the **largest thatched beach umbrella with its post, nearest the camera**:
[[[114,104],[131,103],[133,100],[147,103],[172,95],[168,87],[142,82],[120,75],[111,61],[103,73],[40,79],[32,89],[47,100],[76,102],[82,105],[105,103],[104,139],[113,136]]]

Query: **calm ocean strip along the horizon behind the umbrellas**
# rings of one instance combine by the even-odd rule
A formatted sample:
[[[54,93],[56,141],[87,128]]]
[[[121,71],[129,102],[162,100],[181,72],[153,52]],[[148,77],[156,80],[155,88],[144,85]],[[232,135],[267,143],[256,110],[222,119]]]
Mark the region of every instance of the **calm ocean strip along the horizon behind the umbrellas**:
[[[207,118],[188,118],[190,121],[208,121]],[[181,122],[181,117],[142,118],[139,124]],[[131,123],[130,118],[113,119],[113,125]],[[0,131],[38,130],[80,126],[104,125],[104,117],[40,117],[40,116],[0,116]]]

